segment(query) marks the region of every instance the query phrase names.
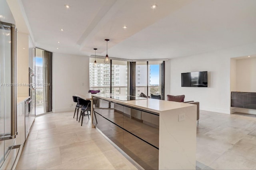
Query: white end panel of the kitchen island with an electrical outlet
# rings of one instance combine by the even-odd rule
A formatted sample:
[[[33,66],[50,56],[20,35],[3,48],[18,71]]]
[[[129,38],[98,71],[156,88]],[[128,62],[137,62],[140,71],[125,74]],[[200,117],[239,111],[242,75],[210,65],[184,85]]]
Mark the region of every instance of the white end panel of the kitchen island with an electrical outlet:
[[[159,169],[196,169],[196,105],[161,112],[159,121]]]

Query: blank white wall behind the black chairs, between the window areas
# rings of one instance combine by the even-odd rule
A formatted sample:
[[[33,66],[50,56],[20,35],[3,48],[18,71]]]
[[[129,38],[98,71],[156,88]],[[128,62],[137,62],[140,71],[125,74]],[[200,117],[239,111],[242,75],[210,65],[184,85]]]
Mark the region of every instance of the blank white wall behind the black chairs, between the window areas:
[[[89,57],[53,53],[52,67],[52,111],[73,111],[72,96],[89,90]]]

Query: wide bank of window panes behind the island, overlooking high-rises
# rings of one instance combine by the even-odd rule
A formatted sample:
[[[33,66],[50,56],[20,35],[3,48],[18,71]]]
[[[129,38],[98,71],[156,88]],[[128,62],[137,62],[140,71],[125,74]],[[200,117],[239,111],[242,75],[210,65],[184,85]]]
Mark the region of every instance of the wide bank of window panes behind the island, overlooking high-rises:
[[[134,95],[139,96],[140,93],[163,95],[161,91],[163,61],[136,61],[136,63],[134,62],[136,67],[132,69],[133,73],[131,74],[128,69],[128,61],[112,59],[111,64],[104,64],[104,59],[97,58],[98,67],[93,67],[94,60],[95,58],[90,58],[90,89],[98,89],[102,94],[110,93],[110,89],[112,89],[112,95],[129,95],[129,76],[134,76],[136,77],[135,84],[133,84],[135,86]]]

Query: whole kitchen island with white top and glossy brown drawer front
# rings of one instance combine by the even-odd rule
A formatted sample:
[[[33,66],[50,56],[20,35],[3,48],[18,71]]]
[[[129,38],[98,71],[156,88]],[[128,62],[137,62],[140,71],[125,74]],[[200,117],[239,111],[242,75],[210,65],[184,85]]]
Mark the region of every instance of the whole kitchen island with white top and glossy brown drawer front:
[[[144,169],[196,169],[196,105],[92,95],[92,124]]]

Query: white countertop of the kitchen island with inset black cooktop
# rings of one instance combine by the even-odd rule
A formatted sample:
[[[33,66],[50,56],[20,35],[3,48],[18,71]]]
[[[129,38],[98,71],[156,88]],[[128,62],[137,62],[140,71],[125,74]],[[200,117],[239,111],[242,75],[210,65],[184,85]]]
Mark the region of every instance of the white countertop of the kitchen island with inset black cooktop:
[[[128,105],[131,107],[137,107],[140,109],[144,109],[144,110],[148,110],[156,113],[161,113],[163,111],[191,106],[191,104],[188,104],[188,103],[164,101],[164,100],[149,99],[149,98],[143,99],[143,100],[120,101],[120,100],[108,98],[110,96],[109,94],[95,94],[92,96],[99,97],[107,101],[113,101],[116,103]]]

